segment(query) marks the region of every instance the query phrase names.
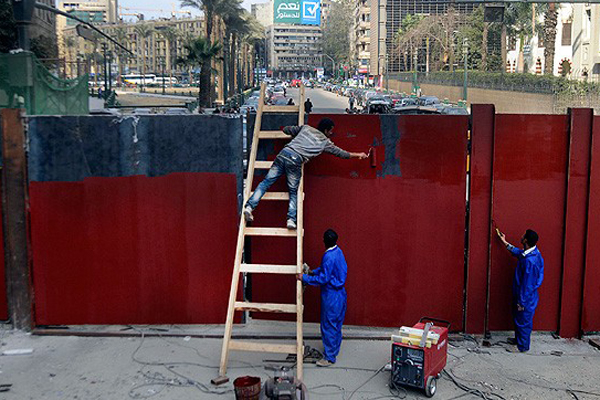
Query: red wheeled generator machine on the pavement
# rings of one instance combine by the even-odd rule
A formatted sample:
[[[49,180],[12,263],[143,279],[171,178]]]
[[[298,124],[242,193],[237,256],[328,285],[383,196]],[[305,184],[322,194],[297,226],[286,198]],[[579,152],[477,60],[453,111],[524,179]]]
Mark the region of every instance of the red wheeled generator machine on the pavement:
[[[437,379],[448,357],[450,322],[423,317],[412,328],[392,335],[392,383],[423,389],[427,397],[437,391]]]

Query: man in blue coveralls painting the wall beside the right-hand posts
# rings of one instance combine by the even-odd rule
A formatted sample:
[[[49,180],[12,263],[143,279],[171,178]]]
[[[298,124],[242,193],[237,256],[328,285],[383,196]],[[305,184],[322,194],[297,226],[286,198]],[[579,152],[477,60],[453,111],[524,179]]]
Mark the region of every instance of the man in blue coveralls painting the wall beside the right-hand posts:
[[[515,337],[509,338],[508,343],[514,346],[507,350],[511,352],[526,352],[531,342],[533,329],[533,314],[537,307],[538,288],[544,280],[544,259],[537,248],[538,234],[527,229],[521,238],[523,250],[506,241],[504,233],[496,230],[498,237],[507,250],[519,262],[513,278],[513,317],[515,320]]]

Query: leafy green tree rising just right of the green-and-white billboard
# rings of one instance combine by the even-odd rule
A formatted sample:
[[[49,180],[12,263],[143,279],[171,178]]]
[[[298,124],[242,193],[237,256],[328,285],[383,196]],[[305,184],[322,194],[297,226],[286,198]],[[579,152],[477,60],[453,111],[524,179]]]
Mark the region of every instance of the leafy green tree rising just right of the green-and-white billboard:
[[[323,26],[323,52],[341,65],[350,61],[350,29],[354,19],[352,0],[331,2],[329,17]]]

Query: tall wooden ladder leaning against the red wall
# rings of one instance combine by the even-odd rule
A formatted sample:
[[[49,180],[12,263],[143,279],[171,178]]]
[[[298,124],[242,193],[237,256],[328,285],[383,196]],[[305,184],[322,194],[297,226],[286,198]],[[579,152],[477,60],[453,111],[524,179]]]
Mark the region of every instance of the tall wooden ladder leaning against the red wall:
[[[248,163],[248,176],[244,188],[244,205],[252,193],[252,183],[254,180],[255,169],[269,169],[272,161],[257,161],[258,143],[260,139],[289,139],[290,136],[281,131],[263,131],[261,130],[262,116],[265,112],[294,112],[298,113],[298,125],[304,125],[304,85],[300,86],[300,104],[293,106],[270,106],[264,104],[266,85],[263,83],[260,89],[260,99],[258,100],[258,110],[256,121],[254,123],[254,138],[250,159]],[[267,192],[263,200],[288,201],[287,192]],[[272,304],[272,303],[249,303],[236,301],[240,273],[269,273],[269,274],[299,274],[302,273],[303,255],[302,239],[304,236],[303,226],[303,203],[304,203],[304,167],[302,168],[302,177],[298,186],[298,212],[297,228],[290,230],[287,228],[252,228],[246,226],[244,214],[240,216],[240,227],[237,239],[237,248],[235,251],[235,263],[233,267],[233,276],[231,278],[231,289],[229,292],[229,306],[227,308],[227,321],[225,323],[225,334],[223,336],[223,348],[221,351],[221,365],[219,368],[219,378],[213,380],[213,383],[220,384],[227,382],[227,362],[231,350],[258,351],[270,353],[296,353],[297,360],[297,378],[302,380],[304,345],[302,338],[302,282],[296,281],[296,304]],[[296,238],[296,265],[270,265],[270,264],[245,264],[242,260],[244,250],[244,239],[246,236],[271,236],[271,237],[295,237]],[[259,311],[274,313],[295,313],[296,314],[296,344],[269,344],[231,340],[231,331],[233,328],[233,316],[235,311]]]

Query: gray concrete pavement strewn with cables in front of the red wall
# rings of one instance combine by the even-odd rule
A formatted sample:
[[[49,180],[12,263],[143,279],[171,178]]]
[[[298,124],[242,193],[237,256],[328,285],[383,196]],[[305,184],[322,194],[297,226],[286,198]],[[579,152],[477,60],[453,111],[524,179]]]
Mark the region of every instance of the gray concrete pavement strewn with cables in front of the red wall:
[[[234,335],[291,337],[294,329],[293,323],[253,321],[236,326]],[[233,399],[235,378],[252,375],[264,382],[272,374],[265,365],[290,365],[285,355],[233,352],[230,382],[215,388],[210,379],[218,373],[222,340],[206,336],[222,334],[222,326],[70,329],[75,330],[90,335],[121,332],[132,336],[38,336],[5,330],[1,351],[30,348],[33,353],[0,357],[0,384],[12,384],[10,391],[0,393],[0,399]],[[307,338],[315,337],[318,325],[305,324],[305,331]],[[346,339],[333,367],[305,365],[308,398],[394,398],[388,387],[390,372],[377,372],[389,362],[390,341],[375,340],[389,337],[393,331],[344,328]],[[359,339],[361,335],[368,339]],[[505,339],[495,335],[492,342]],[[322,350],[320,340],[307,339],[306,344]],[[587,341],[536,334],[527,354],[508,353],[502,344],[479,347],[473,338],[462,335],[452,335],[450,344],[446,371],[464,390],[444,377],[438,382],[434,399],[478,398],[468,394],[468,388],[486,393],[489,399],[600,399],[600,351]],[[555,356],[553,351],[563,353]],[[567,389],[578,391],[569,394]],[[396,394],[400,396],[397,398],[425,398],[411,389]]]

